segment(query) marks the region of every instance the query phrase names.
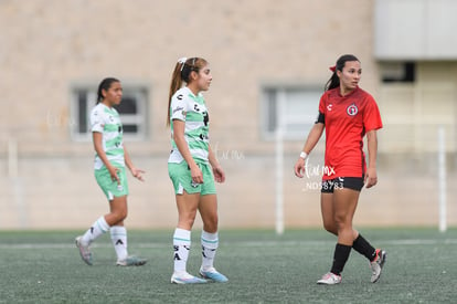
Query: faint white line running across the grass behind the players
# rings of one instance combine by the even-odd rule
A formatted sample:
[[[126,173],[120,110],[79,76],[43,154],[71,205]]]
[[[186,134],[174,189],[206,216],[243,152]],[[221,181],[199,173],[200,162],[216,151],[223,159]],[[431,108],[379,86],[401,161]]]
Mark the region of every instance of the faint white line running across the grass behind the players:
[[[316,247],[316,245],[328,245],[333,244],[334,241],[254,241],[254,242],[247,242],[247,241],[227,241],[223,242],[223,247],[237,247],[237,248],[256,248],[256,247],[296,247],[296,245],[302,245],[302,247]],[[384,241],[376,241],[379,245],[437,245],[437,244],[457,244],[457,239],[445,239],[445,240],[426,240],[426,239],[411,239],[411,240],[384,240]],[[94,243],[93,248],[111,248],[113,245],[107,242],[103,243]],[[153,243],[151,241],[150,243],[135,243],[131,244],[132,248],[144,248],[144,249],[162,249],[162,248],[170,248],[171,247],[171,239],[170,244],[166,243]],[[75,248],[74,243],[19,243],[19,244],[8,244],[8,243],[1,243],[0,250],[6,249],[23,249],[23,250],[30,250],[30,249],[70,249]]]

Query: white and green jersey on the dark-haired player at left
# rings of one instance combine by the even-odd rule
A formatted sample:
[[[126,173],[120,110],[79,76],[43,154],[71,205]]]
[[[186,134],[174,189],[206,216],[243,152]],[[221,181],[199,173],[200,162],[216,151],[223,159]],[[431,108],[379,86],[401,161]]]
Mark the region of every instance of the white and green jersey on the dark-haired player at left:
[[[103,103],[97,104],[91,112],[91,130],[103,134],[103,150],[114,166],[125,167],[123,146],[123,124],[119,113]],[[99,170],[104,167],[102,159],[95,155],[94,168]]]

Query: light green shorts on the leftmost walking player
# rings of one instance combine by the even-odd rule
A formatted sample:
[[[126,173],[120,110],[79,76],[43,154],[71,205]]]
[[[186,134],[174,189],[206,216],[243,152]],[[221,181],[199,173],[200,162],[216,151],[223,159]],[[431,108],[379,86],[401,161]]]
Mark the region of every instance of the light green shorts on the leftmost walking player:
[[[111,176],[106,167],[103,167],[99,170],[95,170],[95,179],[97,180],[98,186],[100,186],[103,192],[108,198],[113,200],[115,197],[124,197],[128,195],[128,185],[127,185],[127,175],[125,167],[117,167],[119,171],[117,176],[119,177],[120,184],[113,181]]]

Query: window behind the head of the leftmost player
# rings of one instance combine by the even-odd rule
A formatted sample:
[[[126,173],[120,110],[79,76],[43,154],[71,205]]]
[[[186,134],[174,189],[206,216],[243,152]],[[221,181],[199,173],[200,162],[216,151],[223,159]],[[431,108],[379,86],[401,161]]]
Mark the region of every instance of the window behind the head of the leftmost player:
[[[146,86],[124,83],[123,88],[123,102],[115,108],[123,122],[124,137],[128,140],[142,140],[147,135],[148,90]],[[96,101],[96,87],[78,85],[72,88],[71,134],[74,140],[91,140],[89,115]]]

